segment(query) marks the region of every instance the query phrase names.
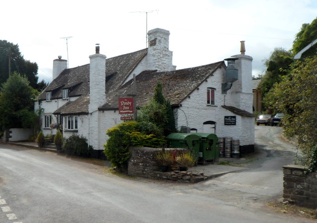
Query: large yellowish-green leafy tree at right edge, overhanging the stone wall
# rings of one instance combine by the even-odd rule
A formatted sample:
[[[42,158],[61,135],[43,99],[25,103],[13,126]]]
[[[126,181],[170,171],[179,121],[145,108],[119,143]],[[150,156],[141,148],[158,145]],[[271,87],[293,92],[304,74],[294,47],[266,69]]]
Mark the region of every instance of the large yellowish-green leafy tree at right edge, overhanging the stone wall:
[[[287,136],[298,139],[302,163],[311,165],[317,145],[317,56],[296,61],[264,98],[265,104],[286,116],[283,120]]]

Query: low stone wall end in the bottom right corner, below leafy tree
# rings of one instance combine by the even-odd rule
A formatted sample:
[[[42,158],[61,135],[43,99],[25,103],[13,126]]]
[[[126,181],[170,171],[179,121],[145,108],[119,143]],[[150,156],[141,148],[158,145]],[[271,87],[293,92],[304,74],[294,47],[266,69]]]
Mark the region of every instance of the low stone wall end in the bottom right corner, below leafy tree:
[[[291,199],[299,206],[317,208],[317,173],[305,173],[306,167],[283,166],[283,198]]]

